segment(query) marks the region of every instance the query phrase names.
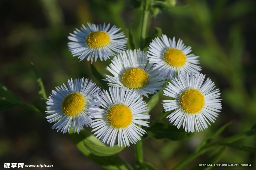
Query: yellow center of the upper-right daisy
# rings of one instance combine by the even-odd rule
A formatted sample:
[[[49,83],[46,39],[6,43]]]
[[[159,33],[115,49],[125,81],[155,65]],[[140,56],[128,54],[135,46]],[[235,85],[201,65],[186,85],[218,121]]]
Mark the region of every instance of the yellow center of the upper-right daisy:
[[[164,59],[172,66],[183,66],[186,62],[186,56],[177,48],[168,48],[164,52]]]

